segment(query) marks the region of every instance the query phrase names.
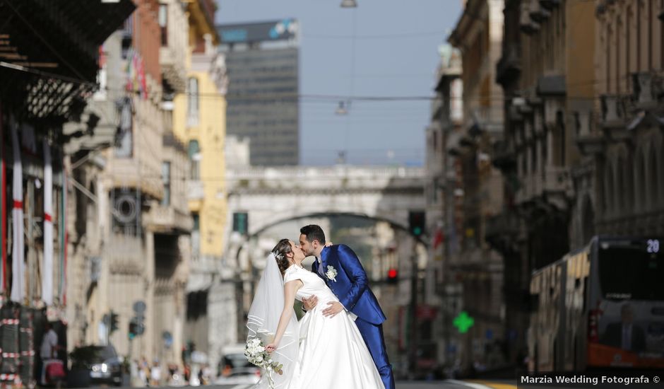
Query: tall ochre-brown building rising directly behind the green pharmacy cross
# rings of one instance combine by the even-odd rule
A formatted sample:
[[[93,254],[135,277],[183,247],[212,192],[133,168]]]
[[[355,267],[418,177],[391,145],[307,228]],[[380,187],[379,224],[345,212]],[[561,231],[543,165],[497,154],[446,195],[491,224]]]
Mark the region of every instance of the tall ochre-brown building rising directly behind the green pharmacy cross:
[[[502,0],[469,0],[449,36],[463,57],[463,124],[446,152],[454,156],[456,176],[453,239],[448,240],[448,277],[461,283],[456,307],[474,320],[451,344],[464,369],[504,364],[502,256],[485,240],[487,221],[502,207],[502,175],[491,163],[493,146],[503,138],[502,91],[495,85],[503,35]]]

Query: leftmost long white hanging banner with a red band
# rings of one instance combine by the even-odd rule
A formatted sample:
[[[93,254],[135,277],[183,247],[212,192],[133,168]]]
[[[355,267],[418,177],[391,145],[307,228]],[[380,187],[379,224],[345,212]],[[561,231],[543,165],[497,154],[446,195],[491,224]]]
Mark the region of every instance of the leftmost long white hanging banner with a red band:
[[[11,147],[14,155],[11,210],[12,244],[11,244],[11,301],[23,303],[25,296],[25,262],[23,262],[23,166],[20,163],[20,146],[16,123],[11,126]]]

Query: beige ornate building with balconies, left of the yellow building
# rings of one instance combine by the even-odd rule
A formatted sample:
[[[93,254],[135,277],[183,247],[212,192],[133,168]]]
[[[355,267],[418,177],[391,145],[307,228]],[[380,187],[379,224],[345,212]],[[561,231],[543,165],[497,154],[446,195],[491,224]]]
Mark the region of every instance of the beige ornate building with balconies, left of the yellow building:
[[[77,139],[90,156],[71,162],[70,271],[80,276],[69,284],[71,345],[113,344],[163,366],[181,359],[193,228],[170,97],[185,85],[187,42],[168,39],[187,33],[182,4],[138,1],[106,40],[98,79],[107,87],[84,112],[97,131]]]

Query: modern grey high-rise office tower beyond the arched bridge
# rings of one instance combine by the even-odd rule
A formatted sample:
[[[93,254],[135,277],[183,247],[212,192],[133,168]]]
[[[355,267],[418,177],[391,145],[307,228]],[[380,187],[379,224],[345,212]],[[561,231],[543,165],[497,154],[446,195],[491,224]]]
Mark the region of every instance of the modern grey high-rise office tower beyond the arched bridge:
[[[219,25],[228,78],[227,132],[251,140],[251,165],[300,163],[299,23]]]

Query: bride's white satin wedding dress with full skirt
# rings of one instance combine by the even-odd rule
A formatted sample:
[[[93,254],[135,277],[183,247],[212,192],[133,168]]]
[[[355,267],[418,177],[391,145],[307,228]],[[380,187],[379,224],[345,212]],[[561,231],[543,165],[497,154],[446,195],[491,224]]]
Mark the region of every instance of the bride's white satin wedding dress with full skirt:
[[[382,389],[381,376],[351,315],[342,310],[326,318],[328,302],[339,301],[325,281],[307,269],[292,265],[284,283],[300,279],[295,298],[318,297],[316,307],[300,320],[300,355],[292,371],[289,389]]]

